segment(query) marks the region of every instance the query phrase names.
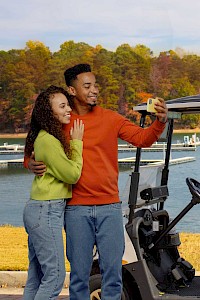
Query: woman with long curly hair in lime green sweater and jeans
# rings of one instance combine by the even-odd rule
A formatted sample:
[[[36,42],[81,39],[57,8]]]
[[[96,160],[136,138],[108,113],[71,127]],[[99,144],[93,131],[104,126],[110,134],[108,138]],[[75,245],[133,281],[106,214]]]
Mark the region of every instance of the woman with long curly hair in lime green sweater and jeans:
[[[24,300],[56,299],[65,280],[64,210],[81,175],[84,132],[82,121],[75,120],[71,140],[66,140],[62,125],[70,122],[71,112],[67,96],[64,89],[50,86],[37,97],[26,138],[25,156],[34,150],[47,168],[43,176],[35,176],[24,208],[29,248]]]

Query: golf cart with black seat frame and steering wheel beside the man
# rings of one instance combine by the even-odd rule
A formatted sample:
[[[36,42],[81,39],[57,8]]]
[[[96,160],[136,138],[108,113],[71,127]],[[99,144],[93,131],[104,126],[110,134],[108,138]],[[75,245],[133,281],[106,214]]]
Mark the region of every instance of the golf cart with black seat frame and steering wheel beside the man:
[[[166,101],[168,122],[161,137],[166,141],[163,163],[141,166],[141,148],[136,150],[134,171],[130,174],[125,224],[125,252],[122,261],[123,300],[200,299],[200,277],[178,251],[175,225],[200,203],[200,183],[186,178],[191,201],[171,220],[164,209],[168,197],[168,176],[174,120],[182,114],[200,113],[200,95]],[[141,114],[140,126],[150,114],[146,103],[134,107]],[[148,182],[149,181],[149,182]],[[197,250],[198,251],[198,250]],[[90,299],[101,299],[98,252],[94,253],[90,276]]]

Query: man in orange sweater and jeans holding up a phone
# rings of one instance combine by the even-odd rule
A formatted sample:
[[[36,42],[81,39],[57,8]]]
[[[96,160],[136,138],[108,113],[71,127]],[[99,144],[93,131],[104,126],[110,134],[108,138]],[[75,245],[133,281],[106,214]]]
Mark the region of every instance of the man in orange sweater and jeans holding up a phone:
[[[116,112],[96,106],[99,91],[88,64],[69,68],[64,75],[72,100],[71,124],[78,118],[85,125],[82,175],[65,212],[70,300],[90,299],[94,245],[102,274],[101,297],[120,300],[124,232],[118,195],[118,138],[137,147],[151,146],[165,128],[167,108],[160,98],[155,104],[157,119],[143,129]],[[65,130],[69,134],[70,126]],[[41,175],[44,165],[31,159],[29,169]]]

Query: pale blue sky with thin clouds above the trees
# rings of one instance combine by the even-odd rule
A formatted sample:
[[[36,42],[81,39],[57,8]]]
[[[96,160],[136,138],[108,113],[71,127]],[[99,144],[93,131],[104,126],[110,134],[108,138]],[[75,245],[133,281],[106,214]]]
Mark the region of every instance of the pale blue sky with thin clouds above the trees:
[[[40,41],[52,52],[64,42],[115,51],[145,45],[159,54],[200,54],[198,0],[0,0],[0,50]]]

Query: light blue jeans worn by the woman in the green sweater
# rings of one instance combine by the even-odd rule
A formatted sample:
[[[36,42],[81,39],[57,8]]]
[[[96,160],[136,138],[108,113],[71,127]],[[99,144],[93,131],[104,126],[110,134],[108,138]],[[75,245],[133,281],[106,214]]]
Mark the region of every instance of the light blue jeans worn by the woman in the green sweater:
[[[66,276],[62,228],[65,199],[29,200],[24,208],[29,268],[24,300],[57,299]]]

